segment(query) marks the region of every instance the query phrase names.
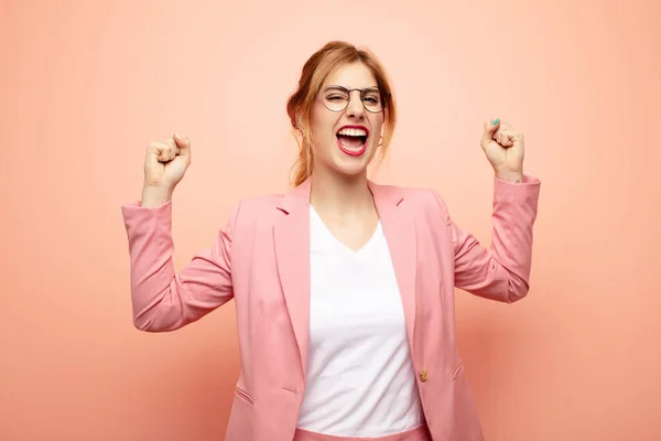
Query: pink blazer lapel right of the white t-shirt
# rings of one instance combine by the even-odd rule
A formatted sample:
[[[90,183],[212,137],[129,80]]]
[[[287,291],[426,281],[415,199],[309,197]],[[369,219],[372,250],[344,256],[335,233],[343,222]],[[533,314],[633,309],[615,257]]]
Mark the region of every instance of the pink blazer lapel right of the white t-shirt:
[[[368,184],[390,249],[392,266],[402,297],[409,345],[413,351],[418,267],[415,223],[411,214],[400,206],[404,197],[397,187],[381,186],[371,181],[368,181]]]

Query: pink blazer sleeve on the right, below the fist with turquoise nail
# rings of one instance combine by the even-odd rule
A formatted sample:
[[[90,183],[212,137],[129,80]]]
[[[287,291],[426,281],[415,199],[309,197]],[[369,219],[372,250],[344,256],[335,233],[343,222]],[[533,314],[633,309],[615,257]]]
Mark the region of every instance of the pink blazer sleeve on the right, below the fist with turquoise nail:
[[[489,248],[459,228],[449,217],[445,203],[434,193],[452,238],[456,288],[506,303],[528,294],[540,186],[537,178],[528,175],[522,183],[495,179]]]

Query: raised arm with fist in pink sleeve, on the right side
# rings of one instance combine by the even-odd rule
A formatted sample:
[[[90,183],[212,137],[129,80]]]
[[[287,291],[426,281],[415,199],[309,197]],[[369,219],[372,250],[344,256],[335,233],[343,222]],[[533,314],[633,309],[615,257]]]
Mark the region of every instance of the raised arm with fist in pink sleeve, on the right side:
[[[455,287],[476,295],[516,302],[528,293],[532,228],[540,181],[523,174],[523,132],[494,119],[484,123],[480,147],[496,174],[489,249],[457,227],[440,201],[455,255]]]

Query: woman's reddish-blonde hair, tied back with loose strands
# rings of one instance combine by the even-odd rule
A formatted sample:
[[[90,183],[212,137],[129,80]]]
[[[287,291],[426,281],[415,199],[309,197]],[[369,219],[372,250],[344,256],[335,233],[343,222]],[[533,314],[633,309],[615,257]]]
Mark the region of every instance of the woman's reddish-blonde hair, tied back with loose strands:
[[[394,97],[386,69],[369,50],[357,49],[355,45],[343,41],[332,41],[305,62],[299,79],[299,87],[286,103],[286,112],[299,143],[299,158],[293,166],[295,171],[294,185],[301,184],[312,174],[313,150],[310,120],[317,94],[333,69],[356,62],[362,63],[371,71],[386,104],[383,109],[383,140],[379,149],[380,161],[386,157],[397,120]]]

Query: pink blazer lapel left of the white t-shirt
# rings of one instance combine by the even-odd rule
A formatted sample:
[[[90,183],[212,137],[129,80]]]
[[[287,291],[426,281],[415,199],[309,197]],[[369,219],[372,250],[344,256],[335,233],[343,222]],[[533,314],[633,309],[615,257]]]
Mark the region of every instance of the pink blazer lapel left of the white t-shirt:
[[[273,230],[280,282],[299,345],[304,378],[310,336],[310,189],[311,180],[307,179],[284,195],[278,208],[285,216]]]

